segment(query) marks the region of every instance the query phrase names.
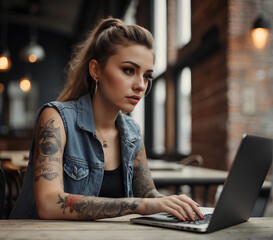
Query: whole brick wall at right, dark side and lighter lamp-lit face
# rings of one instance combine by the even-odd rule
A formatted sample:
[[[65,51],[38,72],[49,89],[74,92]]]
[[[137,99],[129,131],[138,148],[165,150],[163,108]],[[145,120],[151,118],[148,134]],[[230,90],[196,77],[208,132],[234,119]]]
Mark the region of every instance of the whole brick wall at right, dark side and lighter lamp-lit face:
[[[273,20],[273,1],[264,1]],[[220,47],[192,67],[192,152],[205,166],[228,169],[243,133],[273,137],[272,40],[264,50],[250,30],[261,12],[255,0],[192,0],[192,40],[179,58],[218,28]]]

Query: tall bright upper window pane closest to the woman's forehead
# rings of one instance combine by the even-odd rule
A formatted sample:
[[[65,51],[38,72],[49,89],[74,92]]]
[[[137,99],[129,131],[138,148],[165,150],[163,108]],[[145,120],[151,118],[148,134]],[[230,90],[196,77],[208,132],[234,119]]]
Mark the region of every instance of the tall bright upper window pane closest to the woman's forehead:
[[[154,0],[154,40],[155,66],[154,76],[158,76],[167,67],[167,8],[166,0]]]

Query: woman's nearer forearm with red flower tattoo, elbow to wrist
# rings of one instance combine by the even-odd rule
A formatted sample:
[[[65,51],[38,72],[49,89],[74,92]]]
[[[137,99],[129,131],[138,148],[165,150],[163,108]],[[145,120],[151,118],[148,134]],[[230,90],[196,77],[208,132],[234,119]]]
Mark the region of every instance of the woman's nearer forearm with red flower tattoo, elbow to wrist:
[[[100,198],[52,193],[37,210],[42,219],[96,220],[137,213],[141,198]]]

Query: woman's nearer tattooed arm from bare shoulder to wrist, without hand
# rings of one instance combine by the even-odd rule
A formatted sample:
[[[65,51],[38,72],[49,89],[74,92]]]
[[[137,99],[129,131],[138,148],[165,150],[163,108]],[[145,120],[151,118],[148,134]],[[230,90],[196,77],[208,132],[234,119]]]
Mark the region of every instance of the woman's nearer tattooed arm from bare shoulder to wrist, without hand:
[[[34,196],[41,219],[95,220],[134,213],[141,198],[100,198],[68,194],[63,186],[66,135],[55,108],[46,108],[35,131]]]

